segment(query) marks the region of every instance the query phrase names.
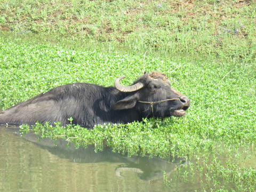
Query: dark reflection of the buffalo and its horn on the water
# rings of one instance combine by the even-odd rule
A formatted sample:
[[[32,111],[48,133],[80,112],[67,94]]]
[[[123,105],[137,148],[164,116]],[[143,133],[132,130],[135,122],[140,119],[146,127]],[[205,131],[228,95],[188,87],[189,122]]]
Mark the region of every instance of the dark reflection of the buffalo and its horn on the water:
[[[183,161],[181,158],[175,159],[175,162],[169,162],[157,157],[137,156],[128,158],[125,155],[113,153],[110,148],[105,148],[103,151],[95,153],[93,146],[75,149],[73,145],[67,147],[68,142],[61,139],[58,140],[57,146],[54,146],[55,141],[50,139],[43,139],[38,142],[38,137],[34,133],[26,134],[25,139],[35,142],[36,145],[47,149],[51,154],[60,158],[70,159],[74,163],[121,163],[116,167],[115,173],[122,178],[124,178],[122,172],[131,171],[138,173],[138,177],[142,180],[162,179],[163,171],[166,173],[175,171],[177,165]]]

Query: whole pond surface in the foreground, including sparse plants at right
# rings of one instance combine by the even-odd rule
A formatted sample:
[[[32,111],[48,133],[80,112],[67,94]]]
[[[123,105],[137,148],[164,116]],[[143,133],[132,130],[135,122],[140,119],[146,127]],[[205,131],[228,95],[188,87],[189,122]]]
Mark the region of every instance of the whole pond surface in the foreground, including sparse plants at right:
[[[50,139],[38,142],[34,133],[21,137],[17,132],[18,127],[0,126],[0,191],[256,190],[255,147],[230,151],[223,146],[217,156],[195,154],[170,162],[128,158],[109,148],[75,149],[64,140],[54,146]]]

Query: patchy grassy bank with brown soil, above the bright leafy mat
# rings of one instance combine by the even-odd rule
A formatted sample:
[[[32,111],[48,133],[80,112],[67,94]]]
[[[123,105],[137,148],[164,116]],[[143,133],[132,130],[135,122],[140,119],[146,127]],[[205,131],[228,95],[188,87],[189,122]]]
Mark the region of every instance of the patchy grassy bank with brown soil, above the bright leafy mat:
[[[255,1],[2,1],[0,30],[255,62]]]

